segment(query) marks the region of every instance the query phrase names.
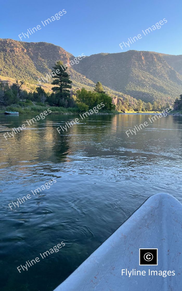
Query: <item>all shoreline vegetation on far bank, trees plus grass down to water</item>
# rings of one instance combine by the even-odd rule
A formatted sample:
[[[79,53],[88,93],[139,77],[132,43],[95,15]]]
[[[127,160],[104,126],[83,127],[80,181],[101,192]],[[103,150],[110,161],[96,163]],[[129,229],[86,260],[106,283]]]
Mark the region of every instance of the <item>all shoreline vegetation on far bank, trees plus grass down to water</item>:
[[[0,114],[5,111],[18,112],[19,114],[40,113],[50,108],[51,114],[79,114],[88,112],[97,104],[105,104],[102,112],[98,114],[155,114],[170,107],[169,102],[160,100],[144,102],[141,99],[129,100],[128,97],[119,99],[118,96],[110,96],[104,91],[100,82],[95,88],[88,91],[86,88],[73,88],[68,67],[63,66],[62,61],[57,61],[52,69],[51,92],[46,92],[42,85],[27,92],[24,90],[25,81],[8,82],[0,80]],[[181,98],[181,95],[180,95]],[[134,100],[134,99],[133,99]],[[181,110],[181,99],[174,102],[174,109]],[[11,112],[12,113],[12,112]]]

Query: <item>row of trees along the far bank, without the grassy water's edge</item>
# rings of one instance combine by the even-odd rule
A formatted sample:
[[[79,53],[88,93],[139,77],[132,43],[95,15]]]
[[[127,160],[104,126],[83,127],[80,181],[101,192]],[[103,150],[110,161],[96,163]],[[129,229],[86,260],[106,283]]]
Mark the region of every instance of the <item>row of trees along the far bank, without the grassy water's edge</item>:
[[[22,89],[24,81],[16,80],[16,83],[9,86],[7,83],[0,81],[0,104],[11,105],[19,104],[20,106],[26,106],[31,104],[58,107],[77,107],[78,111],[87,111],[92,107],[103,102],[106,110],[117,110],[120,112],[127,111],[162,111],[169,108],[169,103],[162,104],[160,101],[143,102],[137,100],[136,104],[131,104],[128,97],[124,100],[118,98],[116,105],[112,104],[112,97],[105,93],[103,86],[100,82],[97,82],[94,91],[87,91],[85,88],[74,91],[70,95],[70,89],[72,88],[72,81],[70,75],[66,72],[68,67],[63,66],[62,61],[57,61],[52,69],[52,93],[45,92],[43,87],[38,86],[36,90],[27,92]],[[53,74],[54,73],[54,74]],[[177,101],[176,101],[177,102]],[[177,104],[177,103],[176,103]]]

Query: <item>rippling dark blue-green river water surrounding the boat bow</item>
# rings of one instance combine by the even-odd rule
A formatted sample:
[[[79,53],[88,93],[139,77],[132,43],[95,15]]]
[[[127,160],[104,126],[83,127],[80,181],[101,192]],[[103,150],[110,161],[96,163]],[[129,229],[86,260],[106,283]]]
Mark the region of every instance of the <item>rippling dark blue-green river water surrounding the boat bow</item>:
[[[49,115],[4,138],[33,117],[0,115],[2,291],[52,291],[149,196],[165,192],[182,202],[182,117],[150,123],[147,114]],[[77,117],[80,123],[58,133]],[[148,127],[126,135],[145,121]],[[50,189],[32,194],[53,178]],[[58,252],[40,257],[61,242]]]

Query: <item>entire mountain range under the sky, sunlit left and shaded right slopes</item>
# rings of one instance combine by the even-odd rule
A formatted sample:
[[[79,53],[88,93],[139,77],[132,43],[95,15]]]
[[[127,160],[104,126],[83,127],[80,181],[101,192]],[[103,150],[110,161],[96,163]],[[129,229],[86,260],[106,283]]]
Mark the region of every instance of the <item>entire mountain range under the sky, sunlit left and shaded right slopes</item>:
[[[38,78],[45,78],[56,61],[66,64],[74,58],[50,43],[0,39],[0,75],[4,77],[38,84]],[[75,88],[93,89],[94,83],[100,81],[106,92],[129,97],[132,103],[136,99],[173,103],[182,93],[181,65],[182,55],[130,50],[86,56],[79,64],[70,66],[68,72]]]

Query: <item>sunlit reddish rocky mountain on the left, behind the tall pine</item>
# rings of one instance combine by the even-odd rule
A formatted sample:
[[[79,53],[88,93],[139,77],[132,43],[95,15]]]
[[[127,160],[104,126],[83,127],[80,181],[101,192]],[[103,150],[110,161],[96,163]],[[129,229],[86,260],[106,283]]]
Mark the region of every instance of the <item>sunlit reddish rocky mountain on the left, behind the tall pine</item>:
[[[66,52],[62,47],[51,43],[0,39],[0,79],[8,81],[10,84],[13,79],[23,79],[30,83],[24,87],[29,91],[30,88],[36,88],[33,84],[39,84],[39,78],[46,79],[56,61],[61,60],[63,64],[66,64],[74,58],[75,56]],[[68,73],[73,80],[73,87],[93,90],[94,82],[74,70],[76,66],[77,64],[74,64],[68,68]],[[50,84],[51,79],[47,79],[47,81]],[[52,85],[49,85],[47,81],[45,83],[42,81],[42,86],[51,91]],[[115,103],[118,99],[122,101],[126,97],[129,98],[131,104],[137,102],[135,98],[107,86],[104,86],[104,90],[114,97]]]

